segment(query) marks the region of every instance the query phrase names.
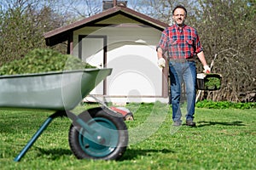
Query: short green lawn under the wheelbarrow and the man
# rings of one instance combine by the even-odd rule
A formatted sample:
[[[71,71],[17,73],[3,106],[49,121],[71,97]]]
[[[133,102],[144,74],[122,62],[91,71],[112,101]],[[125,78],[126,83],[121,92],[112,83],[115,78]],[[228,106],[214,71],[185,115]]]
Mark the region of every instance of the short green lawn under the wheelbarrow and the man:
[[[83,111],[93,105],[79,105]],[[168,105],[130,104],[130,145],[119,161],[78,160],[71,121],[56,118],[20,162],[13,161],[50,111],[0,110],[1,169],[256,169],[256,110],[196,108],[197,127],[172,127]]]

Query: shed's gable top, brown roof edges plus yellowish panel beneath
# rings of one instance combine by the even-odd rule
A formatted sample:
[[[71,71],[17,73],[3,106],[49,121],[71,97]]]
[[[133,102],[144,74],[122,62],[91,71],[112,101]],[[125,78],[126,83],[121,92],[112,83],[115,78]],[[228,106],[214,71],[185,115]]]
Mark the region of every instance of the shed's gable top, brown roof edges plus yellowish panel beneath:
[[[78,20],[70,25],[62,26],[53,31],[44,34],[47,45],[55,45],[58,42],[64,42],[69,37],[70,33],[84,26],[104,26],[117,25],[122,23],[136,23],[154,27],[158,30],[164,30],[168,25],[160,20],[154,20],[145,14],[138,13],[131,8],[115,6],[103,11],[100,14],[95,14],[89,18]],[[56,41],[58,40],[58,41]]]

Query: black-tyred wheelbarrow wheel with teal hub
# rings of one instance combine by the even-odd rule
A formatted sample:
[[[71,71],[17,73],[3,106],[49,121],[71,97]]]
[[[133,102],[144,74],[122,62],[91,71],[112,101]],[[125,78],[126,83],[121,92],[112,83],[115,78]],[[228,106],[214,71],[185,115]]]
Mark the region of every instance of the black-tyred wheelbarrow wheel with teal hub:
[[[117,160],[126,150],[128,132],[125,122],[113,111],[93,108],[79,115],[95,132],[73,123],[68,141],[74,156],[79,159]]]

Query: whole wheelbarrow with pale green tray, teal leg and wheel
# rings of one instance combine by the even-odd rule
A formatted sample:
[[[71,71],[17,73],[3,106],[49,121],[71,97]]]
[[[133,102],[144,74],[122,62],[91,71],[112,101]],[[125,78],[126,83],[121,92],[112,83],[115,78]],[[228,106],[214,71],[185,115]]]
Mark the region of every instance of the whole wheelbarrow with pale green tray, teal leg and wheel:
[[[73,110],[112,69],[54,71],[0,77],[0,107],[55,111],[15,157],[20,161],[53,119],[68,116],[70,149],[79,159],[117,160],[125,153],[128,131],[122,117],[107,106]]]

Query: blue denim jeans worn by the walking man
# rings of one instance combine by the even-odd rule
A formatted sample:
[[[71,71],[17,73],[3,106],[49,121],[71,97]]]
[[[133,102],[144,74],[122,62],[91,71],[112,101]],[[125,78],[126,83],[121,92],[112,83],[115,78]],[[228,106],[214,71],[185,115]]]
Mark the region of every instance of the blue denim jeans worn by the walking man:
[[[182,83],[185,83],[187,97],[186,120],[192,121],[195,114],[195,94],[196,94],[196,67],[195,61],[169,62],[169,72],[171,81],[172,99],[172,120],[181,122],[182,113],[180,110],[180,99],[182,94]]]

